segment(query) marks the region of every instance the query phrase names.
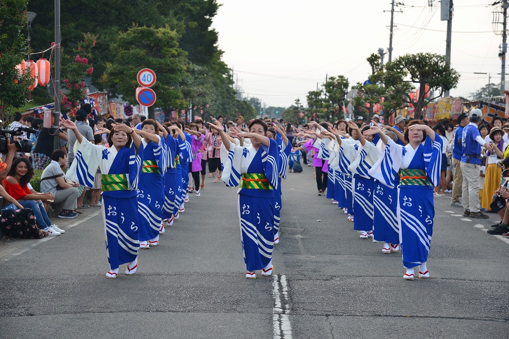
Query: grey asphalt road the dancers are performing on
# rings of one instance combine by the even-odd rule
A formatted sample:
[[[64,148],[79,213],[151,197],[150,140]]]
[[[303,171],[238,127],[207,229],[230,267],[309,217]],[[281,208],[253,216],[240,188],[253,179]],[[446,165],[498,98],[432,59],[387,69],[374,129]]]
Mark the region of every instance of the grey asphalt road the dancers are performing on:
[[[61,236],[2,241],[0,337],[509,337],[509,241],[485,232],[495,214],[463,218],[435,198],[430,279],[404,281],[401,255],[359,239],[309,167],[283,192],[272,278],[245,279],[236,189],[208,177],[133,276],[105,278],[98,209],[58,220]]]

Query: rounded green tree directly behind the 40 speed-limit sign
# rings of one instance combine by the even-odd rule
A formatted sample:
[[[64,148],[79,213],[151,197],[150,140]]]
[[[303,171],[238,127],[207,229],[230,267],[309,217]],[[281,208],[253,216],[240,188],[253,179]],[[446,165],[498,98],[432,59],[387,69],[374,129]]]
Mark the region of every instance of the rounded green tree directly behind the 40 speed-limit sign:
[[[136,75],[144,67],[157,76],[152,86],[157,96],[156,105],[165,110],[185,109],[196,96],[187,71],[189,61],[179,48],[179,35],[169,27],[129,28],[111,45],[115,58],[106,64],[102,82],[108,90],[131,104],[136,103],[138,87]],[[149,118],[154,118],[154,106],[149,108]]]

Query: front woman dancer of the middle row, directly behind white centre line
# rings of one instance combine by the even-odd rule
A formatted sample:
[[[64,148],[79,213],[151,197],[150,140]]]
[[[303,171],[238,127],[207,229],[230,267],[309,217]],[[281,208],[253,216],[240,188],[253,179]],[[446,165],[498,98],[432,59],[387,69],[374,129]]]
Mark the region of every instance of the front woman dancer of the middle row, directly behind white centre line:
[[[222,126],[209,124],[222,139],[222,180],[229,187],[240,184],[238,209],[241,243],[246,278],[256,278],[256,270],[262,275],[272,275],[272,250],[274,246],[274,194],[278,188],[279,149],[274,140],[267,138],[268,126],[254,119],[248,127],[247,147],[237,146],[223,132]]]

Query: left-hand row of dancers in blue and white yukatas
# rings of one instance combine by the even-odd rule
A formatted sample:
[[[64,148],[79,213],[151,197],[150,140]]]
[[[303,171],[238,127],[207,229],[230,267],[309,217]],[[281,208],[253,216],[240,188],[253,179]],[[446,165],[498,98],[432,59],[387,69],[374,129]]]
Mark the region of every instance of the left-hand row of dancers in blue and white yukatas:
[[[160,242],[165,226],[171,226],[185,212],[189,201],[189,164],[201,162],[193,149],[200,138],[197,126],[184,128],[179,121],[162,126],[153,119],[137,130],[114,124],[108,145],[94,145],[82,138],[74,122],[61,120],[76,135],[75,161],[68,176],[92,187],[101,171],[103,218],[109,270],[116,278],[119,266],[127,264],[127,275],[136,272],[138,249],[150,249]],[[194,147],[195,148],[195,147]]]

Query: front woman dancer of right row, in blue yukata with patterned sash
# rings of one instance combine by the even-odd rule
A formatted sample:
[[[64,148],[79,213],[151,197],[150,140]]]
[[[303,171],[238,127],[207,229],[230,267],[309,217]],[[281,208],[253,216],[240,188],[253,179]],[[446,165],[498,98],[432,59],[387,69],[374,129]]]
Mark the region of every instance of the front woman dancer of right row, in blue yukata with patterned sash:
[[[435,217],[433,186],[438,186],[440,181],[442,138],[421,120],[409,122],[406,146],[387,138],[375,126],[364,134],[378,134],[386,144],[383,156],[369,174],[388,187],[394,187],[395,177],[400,176],[396,218],[406,268],[403,278],[413,280],[416,266],[419,266],[419,278],[429,278],[427,261]]]

